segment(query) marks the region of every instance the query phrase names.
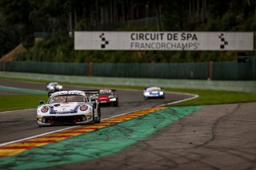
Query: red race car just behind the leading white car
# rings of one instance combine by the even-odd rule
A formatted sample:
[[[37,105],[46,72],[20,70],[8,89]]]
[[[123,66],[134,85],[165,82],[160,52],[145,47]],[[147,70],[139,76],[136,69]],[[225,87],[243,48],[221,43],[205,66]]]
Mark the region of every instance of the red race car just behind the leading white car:
[[[102,104],[109,104],[118,106],[118,93],[115,89],[100,89],[98,95],[98,102]]]

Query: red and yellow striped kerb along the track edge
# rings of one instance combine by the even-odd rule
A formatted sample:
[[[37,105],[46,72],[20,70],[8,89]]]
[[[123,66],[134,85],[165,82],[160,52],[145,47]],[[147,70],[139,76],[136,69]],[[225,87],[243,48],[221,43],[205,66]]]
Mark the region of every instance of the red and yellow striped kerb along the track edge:
[[[4,145],[0,147],[0,157],[14,156],[21,152],[25,152],[27,149],[36,148],[42,145],[50,144],[52,142],[57,142],[58,140],[65,140],[73,136],[81,135],[82,133],[85,133],[85,132],[91,132],[98,128],[105,128],[106,126],[121,123],[122,121],[127,121],[127,120],[140,117],[148,113],[153,113],[162,109],[166,109],[166,107],[155,107],[151,109],[143,109],[133,113],[127,113],[126,115],[112,117],[110,119],[102,121],[100,124],[97,124],[97,125],[82,125],[76,128],[67,129],[62,132],[55,132],[50,135],[40,136],[34,139],[24,140],[14,144]]]

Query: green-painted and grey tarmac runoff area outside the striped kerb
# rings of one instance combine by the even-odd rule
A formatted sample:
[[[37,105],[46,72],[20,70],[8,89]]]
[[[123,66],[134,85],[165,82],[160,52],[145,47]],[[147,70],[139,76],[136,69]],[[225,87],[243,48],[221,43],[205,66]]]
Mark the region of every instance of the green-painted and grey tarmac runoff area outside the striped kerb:
[[[256,169],[255,123],[256,103],[163,108],[2,157],[0,168]]]

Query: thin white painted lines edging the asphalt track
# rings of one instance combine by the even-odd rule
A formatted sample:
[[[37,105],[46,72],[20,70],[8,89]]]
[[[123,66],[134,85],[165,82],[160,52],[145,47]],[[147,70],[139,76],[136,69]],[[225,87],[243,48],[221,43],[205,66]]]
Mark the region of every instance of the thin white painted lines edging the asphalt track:
[[[193,97],[190,97],[190,98],[187,98],[187,99],[184,99],[184,100],[181,100],[181,101],[170,102],[170,103],[168,103],[168,104],[157,105],[157,107],[161,107],[161,106],[165,106],[165,105],[172,105],[172,104],[180,103],[180,102],[183,102],[183,101],[190,101],[190,100],[193,100],[194,98],[197,98],[197,97],[198,97],[197,94],[190,94],[190,93],[180,93],[180,94],[186,94],[186,95],[190,95],[190,96],[193,96]],[[148,107],[148,108],[144,108],[144,109],[150,109],[150,108],[152,108],[152,107]],[[115,116],[113,116],[113,117],[119,117],[119,116],[122,116],[122,115],[126,115],[126,114],[128,114],[128,113],[138,112],[138,111],[140,111],[140,110],[143,110],[143,109],[138,109],[138,110],[130,111],[130,112],[127,112],[127,113],[118,114],[118,115],[115,115]],[[17,110],[17,111],[19,111],[19,110]],[[8,113],[8,112],[12,112],[12,111],[2,112],[2,113]],[[102,121],[108,120],[108,119],[113,118],[113,117],[108,117],[108,118],[102,119]],[[14,140],[14,141],[2,143],[2,144],[0,144],[0,146],[4,146],[4,145],[7,145],[7,144],[14,144],[14,143],[17,143],[17,142],[20,142],[20,141],[23,141],[23,140],[30,140],[30,139],[33,139],[33,138],[36,138],[36,137],[40,137],[40,136],[46,136],[46,135],[52,134],[52,133],[54,133],[54,132],[62,132],[62,131],[64,131],[64,130],[67,130],[67,129],[70,129],[70,128],[77,128],[77,127],[79,127],[79,126],[80,126],[80,125],[72,126],[72,127],[69,127],[69,128],[62,128],[62,129],[55,130],[55,131],[52,131],[52,132],[46,132],[46,133],[42,133],[42,134],[40,134],[40,135],[35,135],[35,136],[26,137],[26,138],[23,138],[23,139],[20,139],[20,140]]]

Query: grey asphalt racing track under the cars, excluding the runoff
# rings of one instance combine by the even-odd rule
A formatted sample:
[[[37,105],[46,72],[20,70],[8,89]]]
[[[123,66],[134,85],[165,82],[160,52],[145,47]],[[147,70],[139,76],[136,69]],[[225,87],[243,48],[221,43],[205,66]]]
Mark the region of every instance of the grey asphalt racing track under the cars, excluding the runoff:
[[[0,79],[0,85],[16,87],[21,89],[46,90],[46,84],[36,82]],[[85,89],[85,87],[70,85],[64,86],[64,89]],[[0,95],[2,94],[6,95],[7,92],[0,91]],[[8,94],[12,95],[15,93],[10,92]],[[22,93],[20,94],[22,95]],[[107,117],[114,117],[122,113],[130,113],[140,109],[146,109],[158,105],[163,105],[191,97],[189,95],[166,93],[166,99],[164,100],[150,99],[144,101],[142,97],[142,91],[139,90],[120,89],[118,90],[118,94],[119,107],[103,106],[102,119]],[[0,113],[0,136],[4,136],[0,138],[0,144],[10,142],[13,140],[20,140],[22,138],[35,136],[45,132],[51,132],[67,127],[70,126],[38,128],[38,125],[36,124],[36,109],[26,109],[7,113]]]

